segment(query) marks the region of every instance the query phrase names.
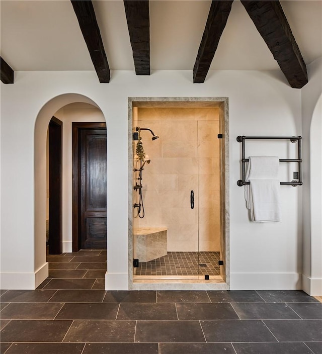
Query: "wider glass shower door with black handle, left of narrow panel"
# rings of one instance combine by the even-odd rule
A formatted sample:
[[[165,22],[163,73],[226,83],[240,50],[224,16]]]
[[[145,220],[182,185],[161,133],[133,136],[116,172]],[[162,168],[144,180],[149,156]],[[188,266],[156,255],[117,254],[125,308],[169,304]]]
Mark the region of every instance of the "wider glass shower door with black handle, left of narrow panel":
[[[133,215],[133,224],[146,235],[136,231],[133,235],[134,252],[139,254],[134,280],[198,279],[198,122],[138,120],[137,124],[148,126],[160,138],[142,139],[150,159],[141,181],[145,216]],[[152,254],[142,257],[145,250]]]

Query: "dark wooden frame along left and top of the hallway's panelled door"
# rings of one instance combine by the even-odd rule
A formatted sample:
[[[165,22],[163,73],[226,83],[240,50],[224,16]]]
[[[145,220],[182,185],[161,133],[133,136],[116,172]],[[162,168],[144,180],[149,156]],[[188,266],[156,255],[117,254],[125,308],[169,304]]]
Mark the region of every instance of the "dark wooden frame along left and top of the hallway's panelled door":
[[[82,129],[106,129],[103,122],[72,122],[71,125],[71,149],[72,149],[72,251],[81,249],[81,143]]]

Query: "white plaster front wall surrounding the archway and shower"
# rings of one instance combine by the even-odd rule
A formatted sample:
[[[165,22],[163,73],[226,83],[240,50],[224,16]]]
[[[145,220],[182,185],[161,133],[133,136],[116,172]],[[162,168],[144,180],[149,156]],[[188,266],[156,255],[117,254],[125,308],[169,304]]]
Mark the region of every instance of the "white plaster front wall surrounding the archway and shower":
[[[15,83],[2,84],[1,89],[4,288],[32,288],[44,263],[44,246],[37,238],[34,243],[34,126],[42,107],[42,117],[48,116],[43,126],[48,125],[50,115],[72,102],[63,102],[62,96],[54,101],[54,110],[50,100],[69,93],[92,100],[107,122],[108,289],[128,287],[127,99],[172,96],[229,98],[231,289],[301,287],[301,188],[282,188],[282,223],[258,224],[249,221],[244,189],[236,185],[240,179],[237,135],[301,135],[301,91],[289,87],[280,72],[213,71],[203,84],[192,83],[191,71],[157,71],[150,76],[114,71],[109,84],[100,84],[95,72],[88,71],[16,72]],[[271,151],[266,142],[261,146]],[[36,141],[36,154],[40,148]],[[37,193],[36,199],[43,193],[45,200],[45,184]]]

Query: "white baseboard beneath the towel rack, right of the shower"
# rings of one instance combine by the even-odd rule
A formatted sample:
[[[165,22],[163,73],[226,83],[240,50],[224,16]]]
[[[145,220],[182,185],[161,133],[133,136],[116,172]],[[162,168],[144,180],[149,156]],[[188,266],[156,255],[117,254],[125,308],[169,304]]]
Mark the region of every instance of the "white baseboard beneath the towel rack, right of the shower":
[[[297,273],[230,273],[230,290],[301,290]]]

